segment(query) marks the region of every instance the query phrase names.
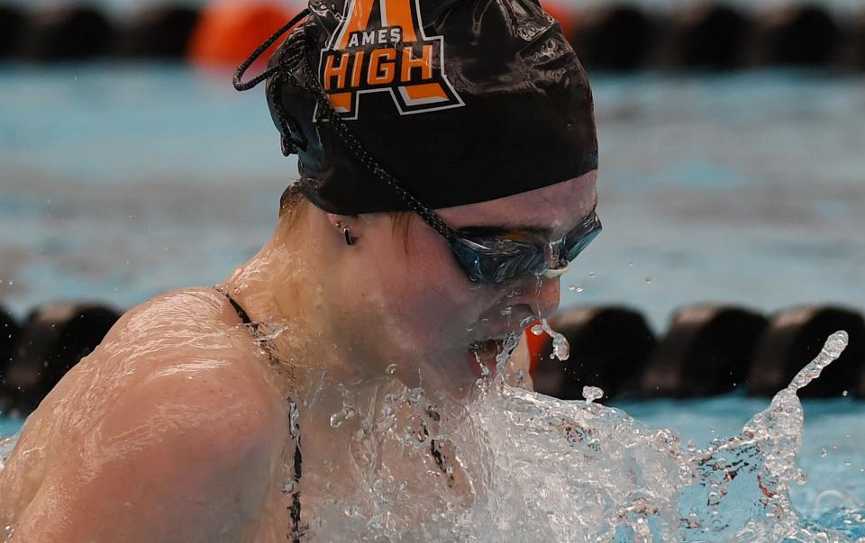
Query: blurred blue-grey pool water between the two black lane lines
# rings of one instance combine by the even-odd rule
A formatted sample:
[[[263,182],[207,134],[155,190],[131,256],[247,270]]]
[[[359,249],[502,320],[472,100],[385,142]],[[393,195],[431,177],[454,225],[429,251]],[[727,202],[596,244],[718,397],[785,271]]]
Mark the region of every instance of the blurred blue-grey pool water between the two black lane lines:
[[[605,231],[563,305],[626,303],[656,330],[704,301],[865,309],[865,77],[593,84]],[[262,96],[228,74],[2,66],[0,300],[23,316],[213,284],[267,239],[295,176]]]

